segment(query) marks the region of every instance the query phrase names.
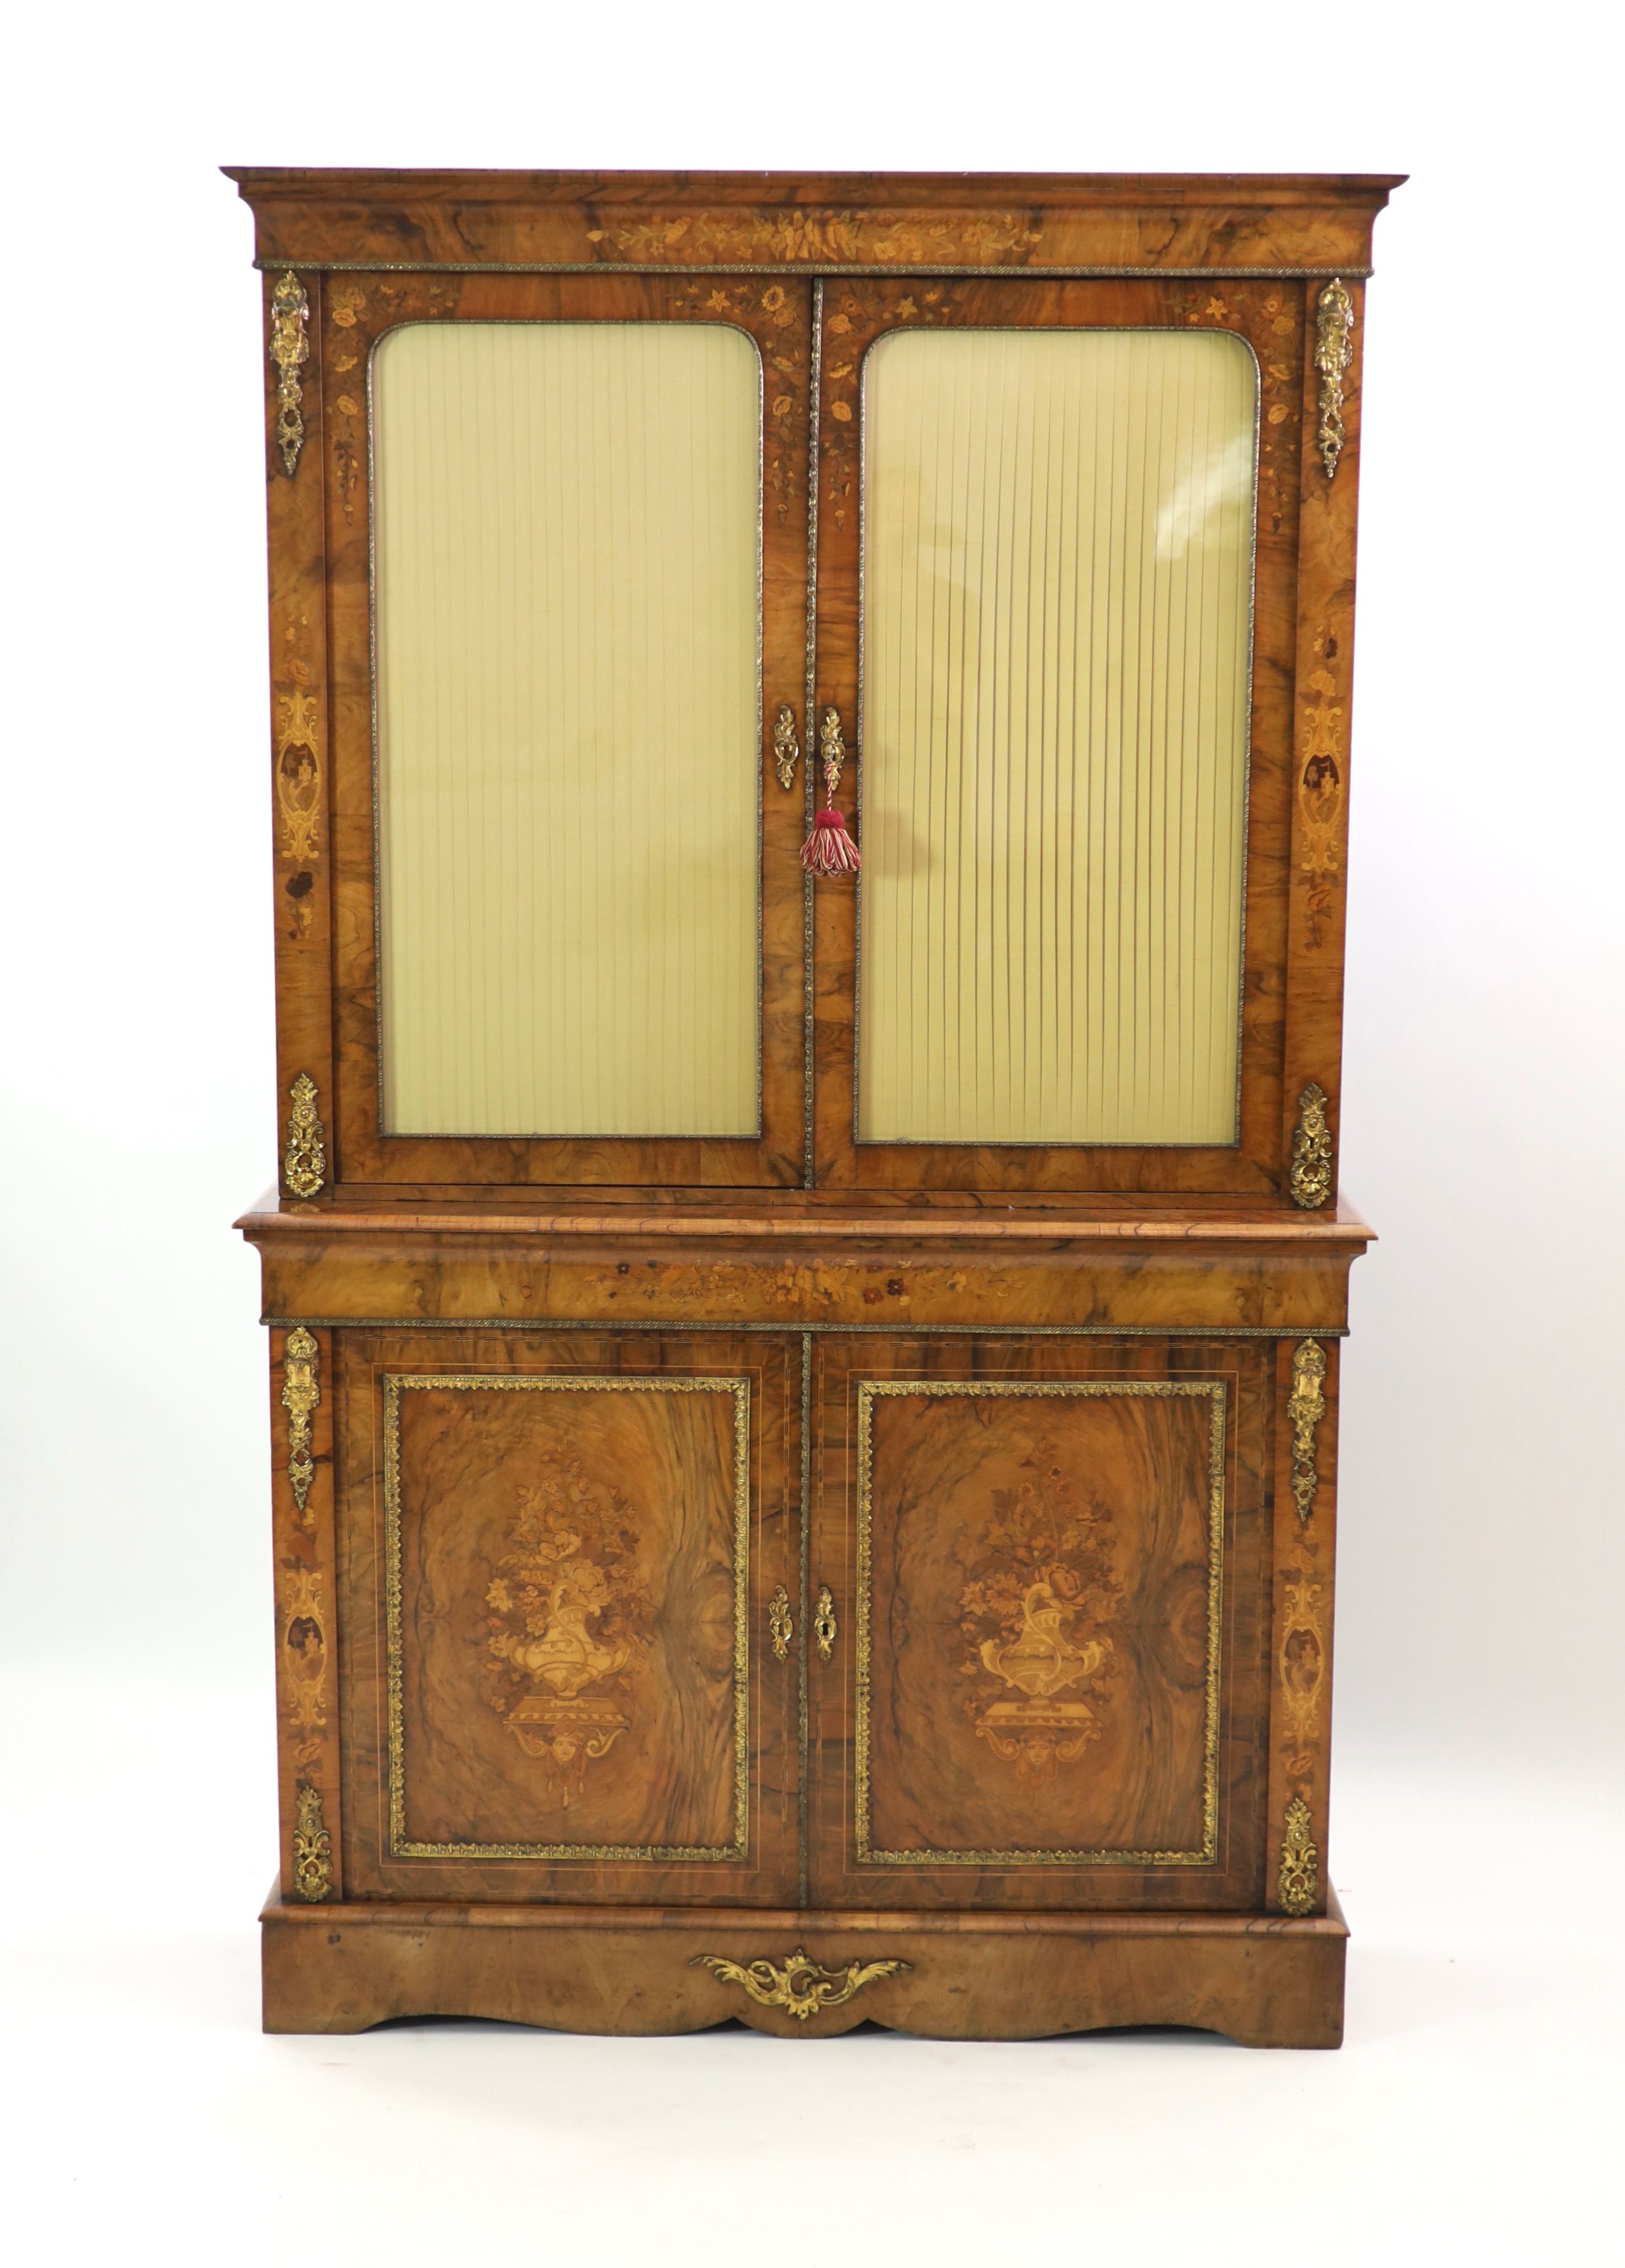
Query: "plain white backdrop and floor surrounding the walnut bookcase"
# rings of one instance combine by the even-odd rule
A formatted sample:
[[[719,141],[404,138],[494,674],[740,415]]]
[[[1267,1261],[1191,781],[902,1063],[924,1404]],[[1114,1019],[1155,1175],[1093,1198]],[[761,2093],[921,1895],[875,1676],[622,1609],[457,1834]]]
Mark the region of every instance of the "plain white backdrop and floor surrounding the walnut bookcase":
[[[1568,0],[97,0],[11,34],[0,1628],[5,1946],[54,2073],[29,2089],[41,2257],[109,2229],[156,2254],[163,2225],[170,2259],[270,2259],[301,2200],[342,2234],[390,2195],[399,2259],[442,2227],[535,2236],[537,2200],[630,2259],[637,2166],[698,2216],[666,2214],[657,2250],[698,2257],[707,2195],[766,2184],[775,2148],[805,2193],[825,2146],[868,2200],[859,2257],[902,2214],[945,2259],[1038,2225],[1172,2259],[1167,2148],[1215,2257],[1247,2257],[1283,2229],[1235,2155],[1265,2166],[1285,2134],[1283,2195],[1342,2200],[1326,2257],[1471,2234],[1532,2259],[1584,2216],[1618,2102],[1586,2062],[1618,1966],[1584,1914],[1618,1848],[1625,1581],[1611,23]],[[1382,1243],[1344,1359],[1342,2057],[254,2034],[265,1354],[229,1220],[272,1179],[276,1098],[261,318],[222,161],[1412,172],[1367,322],[1342,1179]],[[102,2093],[66,2025],[100,2041]],[[322,2091],[335,2071],[360,2093]],[[141,2141],[150,2096],[195,2143],[172,2121]],[[301,2100],[347,2141],[290,2182]],[[397,2193],[378,2152],[403,2141]],[[811,2223],[780,2225],[782,2259],[816,2257]]]

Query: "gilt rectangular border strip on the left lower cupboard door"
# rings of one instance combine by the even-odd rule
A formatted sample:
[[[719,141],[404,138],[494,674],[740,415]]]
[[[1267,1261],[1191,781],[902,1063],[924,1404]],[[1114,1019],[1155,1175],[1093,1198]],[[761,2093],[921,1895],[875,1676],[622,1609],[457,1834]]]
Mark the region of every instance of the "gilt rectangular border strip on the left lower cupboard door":
[[[449,1393],[630,1393],[734,1397],[734,1839],[721,1851],[664,1844],[433,1844],[406,1835],[406,1647],[401,1606],[401,1395]],[[490,1372],[385,1372],[383,1379],[383,1567],[390,1687],[390,1857],[637,1860],[646,1864],[743,1860],[750,1828],[750,1379],[596,1379]]]

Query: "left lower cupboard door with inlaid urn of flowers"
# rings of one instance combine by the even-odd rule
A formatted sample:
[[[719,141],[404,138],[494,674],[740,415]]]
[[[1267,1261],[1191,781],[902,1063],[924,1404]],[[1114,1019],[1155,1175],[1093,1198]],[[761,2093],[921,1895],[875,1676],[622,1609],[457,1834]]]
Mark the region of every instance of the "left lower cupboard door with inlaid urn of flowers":
[[[800,1345],[335,1340],[347,1894],[793,1901]]]

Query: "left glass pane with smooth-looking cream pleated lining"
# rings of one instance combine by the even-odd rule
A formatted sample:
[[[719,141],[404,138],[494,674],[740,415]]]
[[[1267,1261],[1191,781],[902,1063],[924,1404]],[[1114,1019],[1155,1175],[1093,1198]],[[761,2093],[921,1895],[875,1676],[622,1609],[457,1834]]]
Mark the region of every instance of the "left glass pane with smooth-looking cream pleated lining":
[[[385,1132],[752,1136],[755,345],[408,324],[372,406]]]

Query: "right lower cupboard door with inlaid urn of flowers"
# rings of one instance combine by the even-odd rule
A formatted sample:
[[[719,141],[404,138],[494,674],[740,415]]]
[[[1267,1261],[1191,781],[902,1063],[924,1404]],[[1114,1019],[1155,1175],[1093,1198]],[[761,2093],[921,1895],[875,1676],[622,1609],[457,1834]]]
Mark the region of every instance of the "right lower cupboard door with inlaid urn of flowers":
[[[1271,1347],[823,1338],[818,1905],[1262,1905]]]

